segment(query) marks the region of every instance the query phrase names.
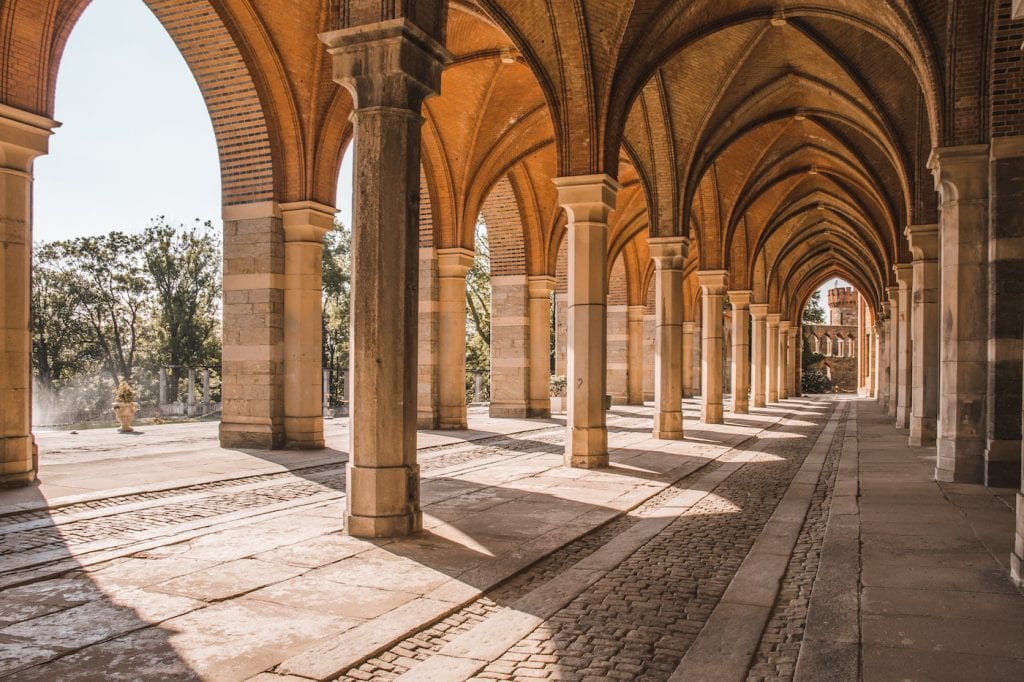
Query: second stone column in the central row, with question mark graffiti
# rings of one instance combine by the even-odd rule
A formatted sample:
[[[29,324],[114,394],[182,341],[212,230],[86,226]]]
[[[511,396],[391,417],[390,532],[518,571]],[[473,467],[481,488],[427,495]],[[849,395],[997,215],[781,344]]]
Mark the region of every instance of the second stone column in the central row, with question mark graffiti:
[[[568,216],[568,434],[565,464],[608,466],[604,421],[607,361],[608,213],[620,185],[608,175],[555,178]]]

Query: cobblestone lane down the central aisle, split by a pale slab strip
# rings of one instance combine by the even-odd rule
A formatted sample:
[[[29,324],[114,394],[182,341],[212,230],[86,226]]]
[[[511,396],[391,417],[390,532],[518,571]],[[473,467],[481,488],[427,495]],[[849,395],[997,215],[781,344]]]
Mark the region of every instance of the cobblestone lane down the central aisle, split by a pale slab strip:
[[[826,422],[771,430],[741,451],[740,469],[686,516],[644,546],[479,679],[668,677],[728,585]],[[842,435],[839,438],[842,442]],[[342,680],[394,679],[455,637],[586,558],[680,489],[691,488],[738,453],[681,479],[641,505],[512,578],[470,606],[349,670]],[[799,644],[798,644],[799,646]]]

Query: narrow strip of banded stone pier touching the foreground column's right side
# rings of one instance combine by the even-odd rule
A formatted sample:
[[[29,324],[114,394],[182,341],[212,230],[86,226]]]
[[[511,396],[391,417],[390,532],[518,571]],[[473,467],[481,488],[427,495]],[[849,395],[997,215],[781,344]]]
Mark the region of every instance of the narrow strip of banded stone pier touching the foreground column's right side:
[[[438,305],[440,289],[437,282],[437,252],[433,247],[420,248],[419,324],[416,406],[417,428],[436,429],[440,421],[437,411]]]

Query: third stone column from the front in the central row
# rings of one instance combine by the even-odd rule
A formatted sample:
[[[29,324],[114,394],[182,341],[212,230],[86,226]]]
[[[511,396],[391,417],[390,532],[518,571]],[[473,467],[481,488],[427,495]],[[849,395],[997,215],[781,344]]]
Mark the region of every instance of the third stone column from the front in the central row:
[[[654,261],[654,437],[683,437],[683,263],[685,237],[648,240]]]

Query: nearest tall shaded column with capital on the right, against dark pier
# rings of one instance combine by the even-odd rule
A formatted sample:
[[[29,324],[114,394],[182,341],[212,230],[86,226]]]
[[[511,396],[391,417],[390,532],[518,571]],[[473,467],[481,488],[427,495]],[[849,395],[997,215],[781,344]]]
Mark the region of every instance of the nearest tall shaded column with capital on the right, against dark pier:
[[[988,145],[937,148],[929,167],[941,197],[941,343],[935,477],[985,477],[988,383]]]

